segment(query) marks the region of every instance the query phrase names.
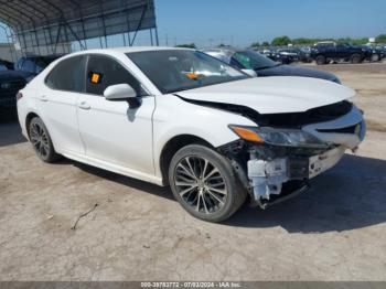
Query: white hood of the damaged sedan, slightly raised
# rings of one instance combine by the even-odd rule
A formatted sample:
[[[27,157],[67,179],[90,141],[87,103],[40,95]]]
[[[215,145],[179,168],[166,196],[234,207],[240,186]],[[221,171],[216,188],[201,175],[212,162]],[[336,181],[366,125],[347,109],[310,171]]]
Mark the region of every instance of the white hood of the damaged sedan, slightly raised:
[[[345,86],[307,77],[257,77],[176,93],[189,100],[246,106],[259,114],[303,113],[352,98]]]

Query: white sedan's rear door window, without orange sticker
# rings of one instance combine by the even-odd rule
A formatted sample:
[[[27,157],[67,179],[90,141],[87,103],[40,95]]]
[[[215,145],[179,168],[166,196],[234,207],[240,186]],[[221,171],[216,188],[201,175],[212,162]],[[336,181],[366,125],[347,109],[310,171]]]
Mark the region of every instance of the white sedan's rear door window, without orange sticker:
[[[45,84],[52,89],[83,93],[86,76],[85,60],[85,56],[74,56],[60,62],[49,74]]]

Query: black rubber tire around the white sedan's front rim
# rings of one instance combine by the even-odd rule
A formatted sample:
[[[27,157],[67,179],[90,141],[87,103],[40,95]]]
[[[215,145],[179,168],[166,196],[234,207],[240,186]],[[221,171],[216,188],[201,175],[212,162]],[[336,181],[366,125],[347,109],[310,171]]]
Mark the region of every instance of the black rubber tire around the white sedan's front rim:
[[[227,189],[227,197],[224,206],[213,213],[213,214],[204,214],[199,213],[192,206],[186,204],[183,199],[180,196],[178,189],[175,188],[175,170],[179,162],[186,157],[202,157],[207,159],[211,163],[213,163],[218,170],[222,176],[224,178],[226,189]],[[169,183],[175,200],[193,216],[201,218],[203,221],[208,222],[221,222],[225,218],[228,218],[235,211],[237,211],[236,204],[236,194],[243,193],[240,189],[238,189],[238,180],[235,175],[235,172],[232,168],[232,164],[228,160],[226,160],[223,156],[215,152],[214,150],[200,146],[200,144],[191,144],[180,149],[174,157],[169,167]]]

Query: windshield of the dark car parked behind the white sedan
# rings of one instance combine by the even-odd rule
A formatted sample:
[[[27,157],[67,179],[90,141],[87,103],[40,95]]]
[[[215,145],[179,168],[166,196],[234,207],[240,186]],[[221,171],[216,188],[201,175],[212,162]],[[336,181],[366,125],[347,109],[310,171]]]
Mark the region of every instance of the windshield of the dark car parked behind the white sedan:
[[[233,57],[242,63],[246,69],[265,69],[278,66],[278,63],[255,51],[238,51]]]

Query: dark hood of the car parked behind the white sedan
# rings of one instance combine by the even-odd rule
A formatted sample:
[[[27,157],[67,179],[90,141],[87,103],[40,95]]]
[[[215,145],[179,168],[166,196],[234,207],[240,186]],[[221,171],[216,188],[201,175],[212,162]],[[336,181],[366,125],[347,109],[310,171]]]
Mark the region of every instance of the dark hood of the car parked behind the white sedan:
[[[328,72],[321,72],[307,67],[290,66],[290,65],[280,65],[266,69],[257,69],[258,76],[303,76],[303,77],[313,77],[321,78],[325,81],[336,82],[336,75]]]

